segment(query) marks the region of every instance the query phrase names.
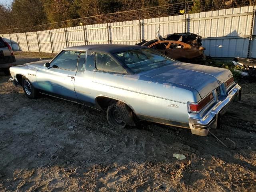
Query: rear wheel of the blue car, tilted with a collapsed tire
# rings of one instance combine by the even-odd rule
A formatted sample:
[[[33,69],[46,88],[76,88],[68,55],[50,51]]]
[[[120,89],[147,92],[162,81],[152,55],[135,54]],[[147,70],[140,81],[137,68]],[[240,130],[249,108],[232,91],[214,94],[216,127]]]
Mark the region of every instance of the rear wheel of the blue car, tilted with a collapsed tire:
[[[126,125],[135,126],[133,113],[123,102],[114,102],[107,109],[108,123],[118,128],[124,128]]]

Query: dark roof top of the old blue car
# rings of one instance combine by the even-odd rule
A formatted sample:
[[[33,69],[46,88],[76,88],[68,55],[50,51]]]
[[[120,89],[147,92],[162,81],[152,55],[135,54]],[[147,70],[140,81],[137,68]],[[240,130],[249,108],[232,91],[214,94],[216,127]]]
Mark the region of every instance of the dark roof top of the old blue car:
[[[74,50],[74,51],[98,51],[98,52],[106,52],[106,53],[118,53],[124,52],[129,50],[137,50],[137,49],[145,49],[145,46],[138,46],[138,45],[118,45],[118,44],[97,44],[97,45],[81,45],[81,46],[74,46],[74,47],[67,47],[63,50]]]

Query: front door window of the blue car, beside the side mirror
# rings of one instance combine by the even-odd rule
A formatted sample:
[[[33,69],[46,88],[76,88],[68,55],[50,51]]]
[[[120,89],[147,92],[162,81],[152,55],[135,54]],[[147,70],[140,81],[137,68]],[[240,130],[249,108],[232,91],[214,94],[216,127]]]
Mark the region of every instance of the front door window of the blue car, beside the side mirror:
[[[79,51],[62,51],[52,62],[52,66],[58,66],[60,69],[76,71]]]

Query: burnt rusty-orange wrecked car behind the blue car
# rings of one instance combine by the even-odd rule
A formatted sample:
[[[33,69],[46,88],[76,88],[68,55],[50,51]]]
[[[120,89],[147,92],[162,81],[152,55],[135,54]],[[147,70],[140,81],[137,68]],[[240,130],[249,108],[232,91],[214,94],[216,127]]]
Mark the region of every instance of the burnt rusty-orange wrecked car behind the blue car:
[[[161,36],[160,27],[156,30],[156,39],[136,45],[153,48],[170,58],[182,62],[202,64],[206,60],[205,48],[202,46],[202,37],[194,33],[174,33]]]

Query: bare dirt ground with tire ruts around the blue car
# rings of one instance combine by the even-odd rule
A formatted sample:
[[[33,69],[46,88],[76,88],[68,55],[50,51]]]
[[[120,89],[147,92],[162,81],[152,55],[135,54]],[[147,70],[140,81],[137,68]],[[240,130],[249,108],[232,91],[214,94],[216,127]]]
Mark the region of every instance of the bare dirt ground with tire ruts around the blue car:
[[[33,57],[16,54],[20,63],[41,56]],[[255,83],[240,83],[242,102],[212,130],[234,141],[232,150],[213,136],[150,122],[117,129],[105,112],[28,99],[8,78],[0,74],[0,191],[256,191]]]

